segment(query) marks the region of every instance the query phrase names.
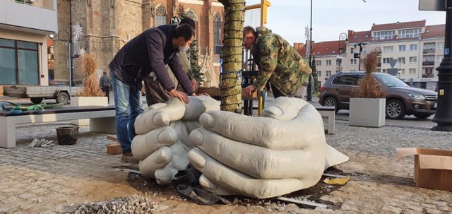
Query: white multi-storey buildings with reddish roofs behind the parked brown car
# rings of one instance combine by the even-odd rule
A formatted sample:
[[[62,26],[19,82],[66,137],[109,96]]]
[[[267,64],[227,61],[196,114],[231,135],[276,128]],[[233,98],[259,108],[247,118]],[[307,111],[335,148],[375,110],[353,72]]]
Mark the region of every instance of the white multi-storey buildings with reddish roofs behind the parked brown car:
[[[378,72],[391,73],[417,88],[436,90],[438,77],[435,69],[444,57],[445,25],[425,23],[425,20],[419,20],[374,24],[369,31],[348,30],[345,53],[341,53],[340,57],[338,54],[334,56],[335,53],[327,48],[334,44],[334,41],[313,42],[312,54],[316,59],[316,69],[321,71],[319,81],[324,83],[331,75],[329,71],[363,70],[362,60],[366,54],[379,52]],[[343,41],[338,40],[335,43],[339,42]],[[295,46],[306,47],[299,44]],[[299,49],[299,52],[306,56],[305,49]],[[340,67],[331,70],[328,61],[335,58],[342,59],[342,63]]]

